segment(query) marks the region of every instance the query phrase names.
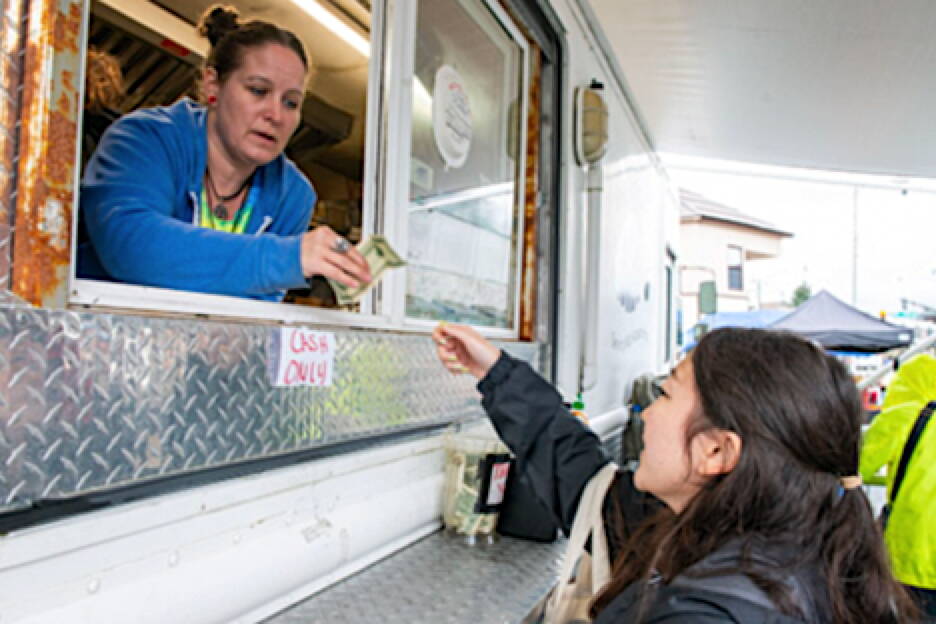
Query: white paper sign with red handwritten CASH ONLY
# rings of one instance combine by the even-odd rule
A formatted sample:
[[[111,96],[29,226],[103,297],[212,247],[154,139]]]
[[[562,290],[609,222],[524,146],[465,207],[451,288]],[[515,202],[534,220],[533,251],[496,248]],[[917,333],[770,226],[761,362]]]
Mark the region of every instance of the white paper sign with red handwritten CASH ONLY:
[[[330,386],[335,368],[335,335],[301,327],[273,332],[269,370],[277,388]]]

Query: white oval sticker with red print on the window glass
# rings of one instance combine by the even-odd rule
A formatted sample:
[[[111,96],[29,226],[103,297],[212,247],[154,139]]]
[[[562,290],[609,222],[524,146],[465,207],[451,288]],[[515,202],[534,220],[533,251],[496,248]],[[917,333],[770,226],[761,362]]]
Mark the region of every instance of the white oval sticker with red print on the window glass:
[[[450,65],[436,72],[432,89],[432,133],[445,164],[461,167],[471,149],[471,105],[461,76]]]

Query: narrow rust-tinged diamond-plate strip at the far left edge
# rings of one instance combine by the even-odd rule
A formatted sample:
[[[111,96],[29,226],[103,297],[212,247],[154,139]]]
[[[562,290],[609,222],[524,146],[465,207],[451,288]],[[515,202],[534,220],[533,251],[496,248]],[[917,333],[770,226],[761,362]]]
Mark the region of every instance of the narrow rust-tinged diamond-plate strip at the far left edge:
[[[10,287],[24,6],[25,0],[0,0],[0,293]]]

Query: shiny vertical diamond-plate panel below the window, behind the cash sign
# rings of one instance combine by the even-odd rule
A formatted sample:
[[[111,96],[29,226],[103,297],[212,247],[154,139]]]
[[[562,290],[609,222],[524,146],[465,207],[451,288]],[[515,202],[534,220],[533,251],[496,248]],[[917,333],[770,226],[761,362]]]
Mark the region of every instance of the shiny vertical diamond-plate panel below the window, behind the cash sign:
[[[273,388],[269,326],[0,307],[0,512],[481,415],[428,336],[334,330],[334,383]]]

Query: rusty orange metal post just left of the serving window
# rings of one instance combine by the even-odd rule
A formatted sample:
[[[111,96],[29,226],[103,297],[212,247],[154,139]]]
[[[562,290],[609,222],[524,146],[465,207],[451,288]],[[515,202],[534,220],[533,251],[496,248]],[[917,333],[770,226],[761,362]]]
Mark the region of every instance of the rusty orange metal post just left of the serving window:
[[[79,115],[82,3],[32,0],[26,15],[11,290],[63,307]]]

